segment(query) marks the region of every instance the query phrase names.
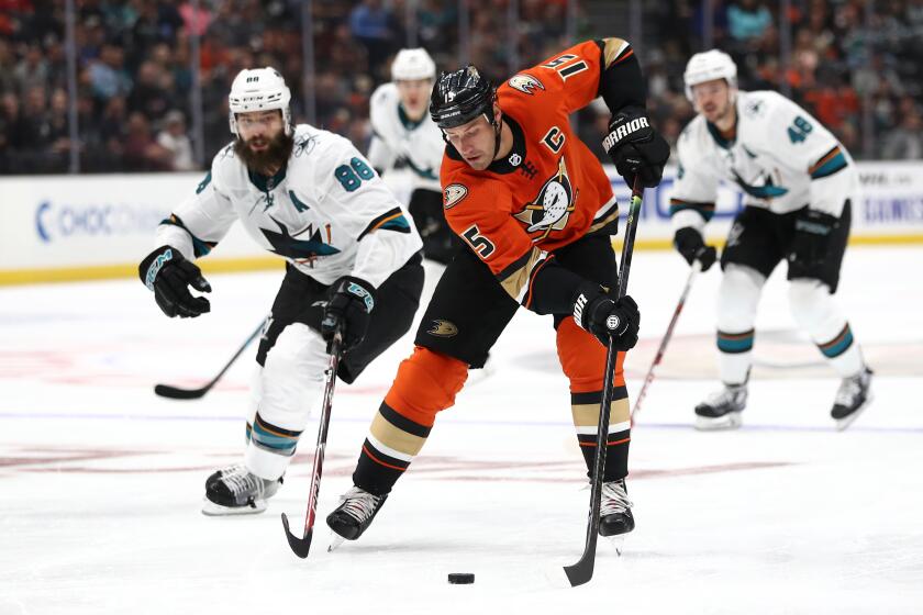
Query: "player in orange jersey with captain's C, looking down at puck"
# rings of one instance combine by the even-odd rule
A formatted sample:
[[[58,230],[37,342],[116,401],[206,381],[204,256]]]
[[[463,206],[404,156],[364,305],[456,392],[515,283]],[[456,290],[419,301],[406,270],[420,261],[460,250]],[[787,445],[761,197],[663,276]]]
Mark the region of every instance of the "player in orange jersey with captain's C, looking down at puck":
[[[634,527],[625,490],[630,417],[623,361],[637,342],[640,313],[616,299],[610,236],[619,206],[602,165],[570,130],[570,113],[602,96],[612,112],[604,139],[631,185],[660,181],[669,156],[650,127],[646,89],[632,47],[588,41],[525,69],[494,89],[474,66],[444,72],[430,113],[444,132],[444,209],[466,249],[435,289],[415,348],[385,396],[359,455],[354,487],[327,516],[356,539],[418,455],[436,414],[455,401],[520,306],[551,314],[560,366],[570,381],[577,439],[587,468],[596,456],[605,347],[618,350],[610,409],[600,534]]]

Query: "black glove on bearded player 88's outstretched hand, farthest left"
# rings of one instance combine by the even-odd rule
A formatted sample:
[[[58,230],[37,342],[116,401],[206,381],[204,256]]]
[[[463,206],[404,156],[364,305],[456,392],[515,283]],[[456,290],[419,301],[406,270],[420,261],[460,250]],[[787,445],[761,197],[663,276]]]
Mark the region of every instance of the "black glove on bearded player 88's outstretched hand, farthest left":
[[[202,270],[173,246],[160,246],[148,254],[137,268],[141,281],[154,291],[154,300],[169,317],[194,318],[211,311],[204,297],[192,297],[188,287],[211,292]]]

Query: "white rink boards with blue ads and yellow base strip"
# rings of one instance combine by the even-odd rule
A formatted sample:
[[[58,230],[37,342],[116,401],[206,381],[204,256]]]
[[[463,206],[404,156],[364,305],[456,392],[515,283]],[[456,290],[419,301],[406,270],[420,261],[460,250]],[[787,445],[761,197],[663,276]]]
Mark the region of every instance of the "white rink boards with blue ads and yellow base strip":
[[[853,211],[854,244],[923,244],[923,164],[859,163],[861,203]],[[608,167],[620,202],[630,191]],[[0,284],[116,278],[135,275],[136,264],[154,246],[154,228],[186,198],[202,174],[32,176],[0,179],[3,227],[0,230]],[[672,230],[669,199],[676,169],[645,193],[636,246],[668,248]],[[386,181],[407,202],[405,170]],[[721,243],[741,195],[722,187],[710,241]],[[624,209],[624,208],[623,208]],[[207,271],[246,271],[279,267],[234,226],[204,259]]]

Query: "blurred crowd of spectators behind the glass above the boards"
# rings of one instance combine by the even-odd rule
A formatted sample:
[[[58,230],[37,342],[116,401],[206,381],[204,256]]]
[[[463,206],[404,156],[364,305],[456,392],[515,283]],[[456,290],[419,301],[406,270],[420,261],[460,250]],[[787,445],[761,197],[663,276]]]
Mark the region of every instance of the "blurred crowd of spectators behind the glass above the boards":
[[[597,32],[611,23],[598,12],[624,10],[627,1],[580,0],[570,22],[567,0],[519,0],[510,23],[507,0],[468,0],[470,36],[463,42],[458,0],[419,0],[414,14],[405,1],[312,2],[311,103],[303,96],[299,0],[76,0],[78,139],[71,144],[65,2],[0,0],[0,174],[66,172],[71,145],[81,172],[202,168],[197,149],[207,164],[230,141],[227,91],[245,67],[276,67],[292,90],[297,120],[304,121],[313,104],[316,125],[364,148],[369,94],[389,79],[390,59],[409,34],[438,66],[455,67],[464,49],[498,80],[513,65],[564,48],[570,36],[631,40],[629,32]],[[736,59],[743,89],[788,92],[857,158],[923,158],[923,0],[792,0],[786,15],[779,2],[712,0],[710,26],[699,0],[640,4],[643,40],[635,43],[649,108],[671,142],[693,114],[682,70],[710,36]],[[570,32],[568,24],[576,24]],[[785,65],[780,49],[788,32],[791,63]],[[193,33],[198,90],[190,69]],[[199,148],[192,131],[198,109]],[[599,107],[575,120],[600,155],[596,144],[608,120]]]

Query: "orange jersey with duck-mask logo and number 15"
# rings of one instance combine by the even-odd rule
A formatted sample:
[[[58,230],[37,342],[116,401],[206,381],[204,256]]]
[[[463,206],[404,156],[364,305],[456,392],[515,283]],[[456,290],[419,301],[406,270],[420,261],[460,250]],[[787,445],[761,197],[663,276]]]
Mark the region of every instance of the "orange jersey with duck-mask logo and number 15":
[[[446,147],[446,221],[526,308],[554,250],[619,215],[609,178],[568,116],[600,94],[608,67],[632,55],[621,38],[587,41],[507,80],[497,98],[513,146],[486,170]]]

